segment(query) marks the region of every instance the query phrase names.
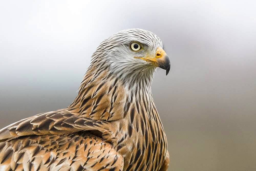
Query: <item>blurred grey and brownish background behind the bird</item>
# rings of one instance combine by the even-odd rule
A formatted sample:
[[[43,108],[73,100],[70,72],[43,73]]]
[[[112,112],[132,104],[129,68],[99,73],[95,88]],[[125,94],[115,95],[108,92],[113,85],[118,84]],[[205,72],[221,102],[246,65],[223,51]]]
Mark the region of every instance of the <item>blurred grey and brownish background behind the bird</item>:
[[[256,170],[256,1],[1,1],[0,126],[68,106],[102,40],[143,28],[169,170]]]

